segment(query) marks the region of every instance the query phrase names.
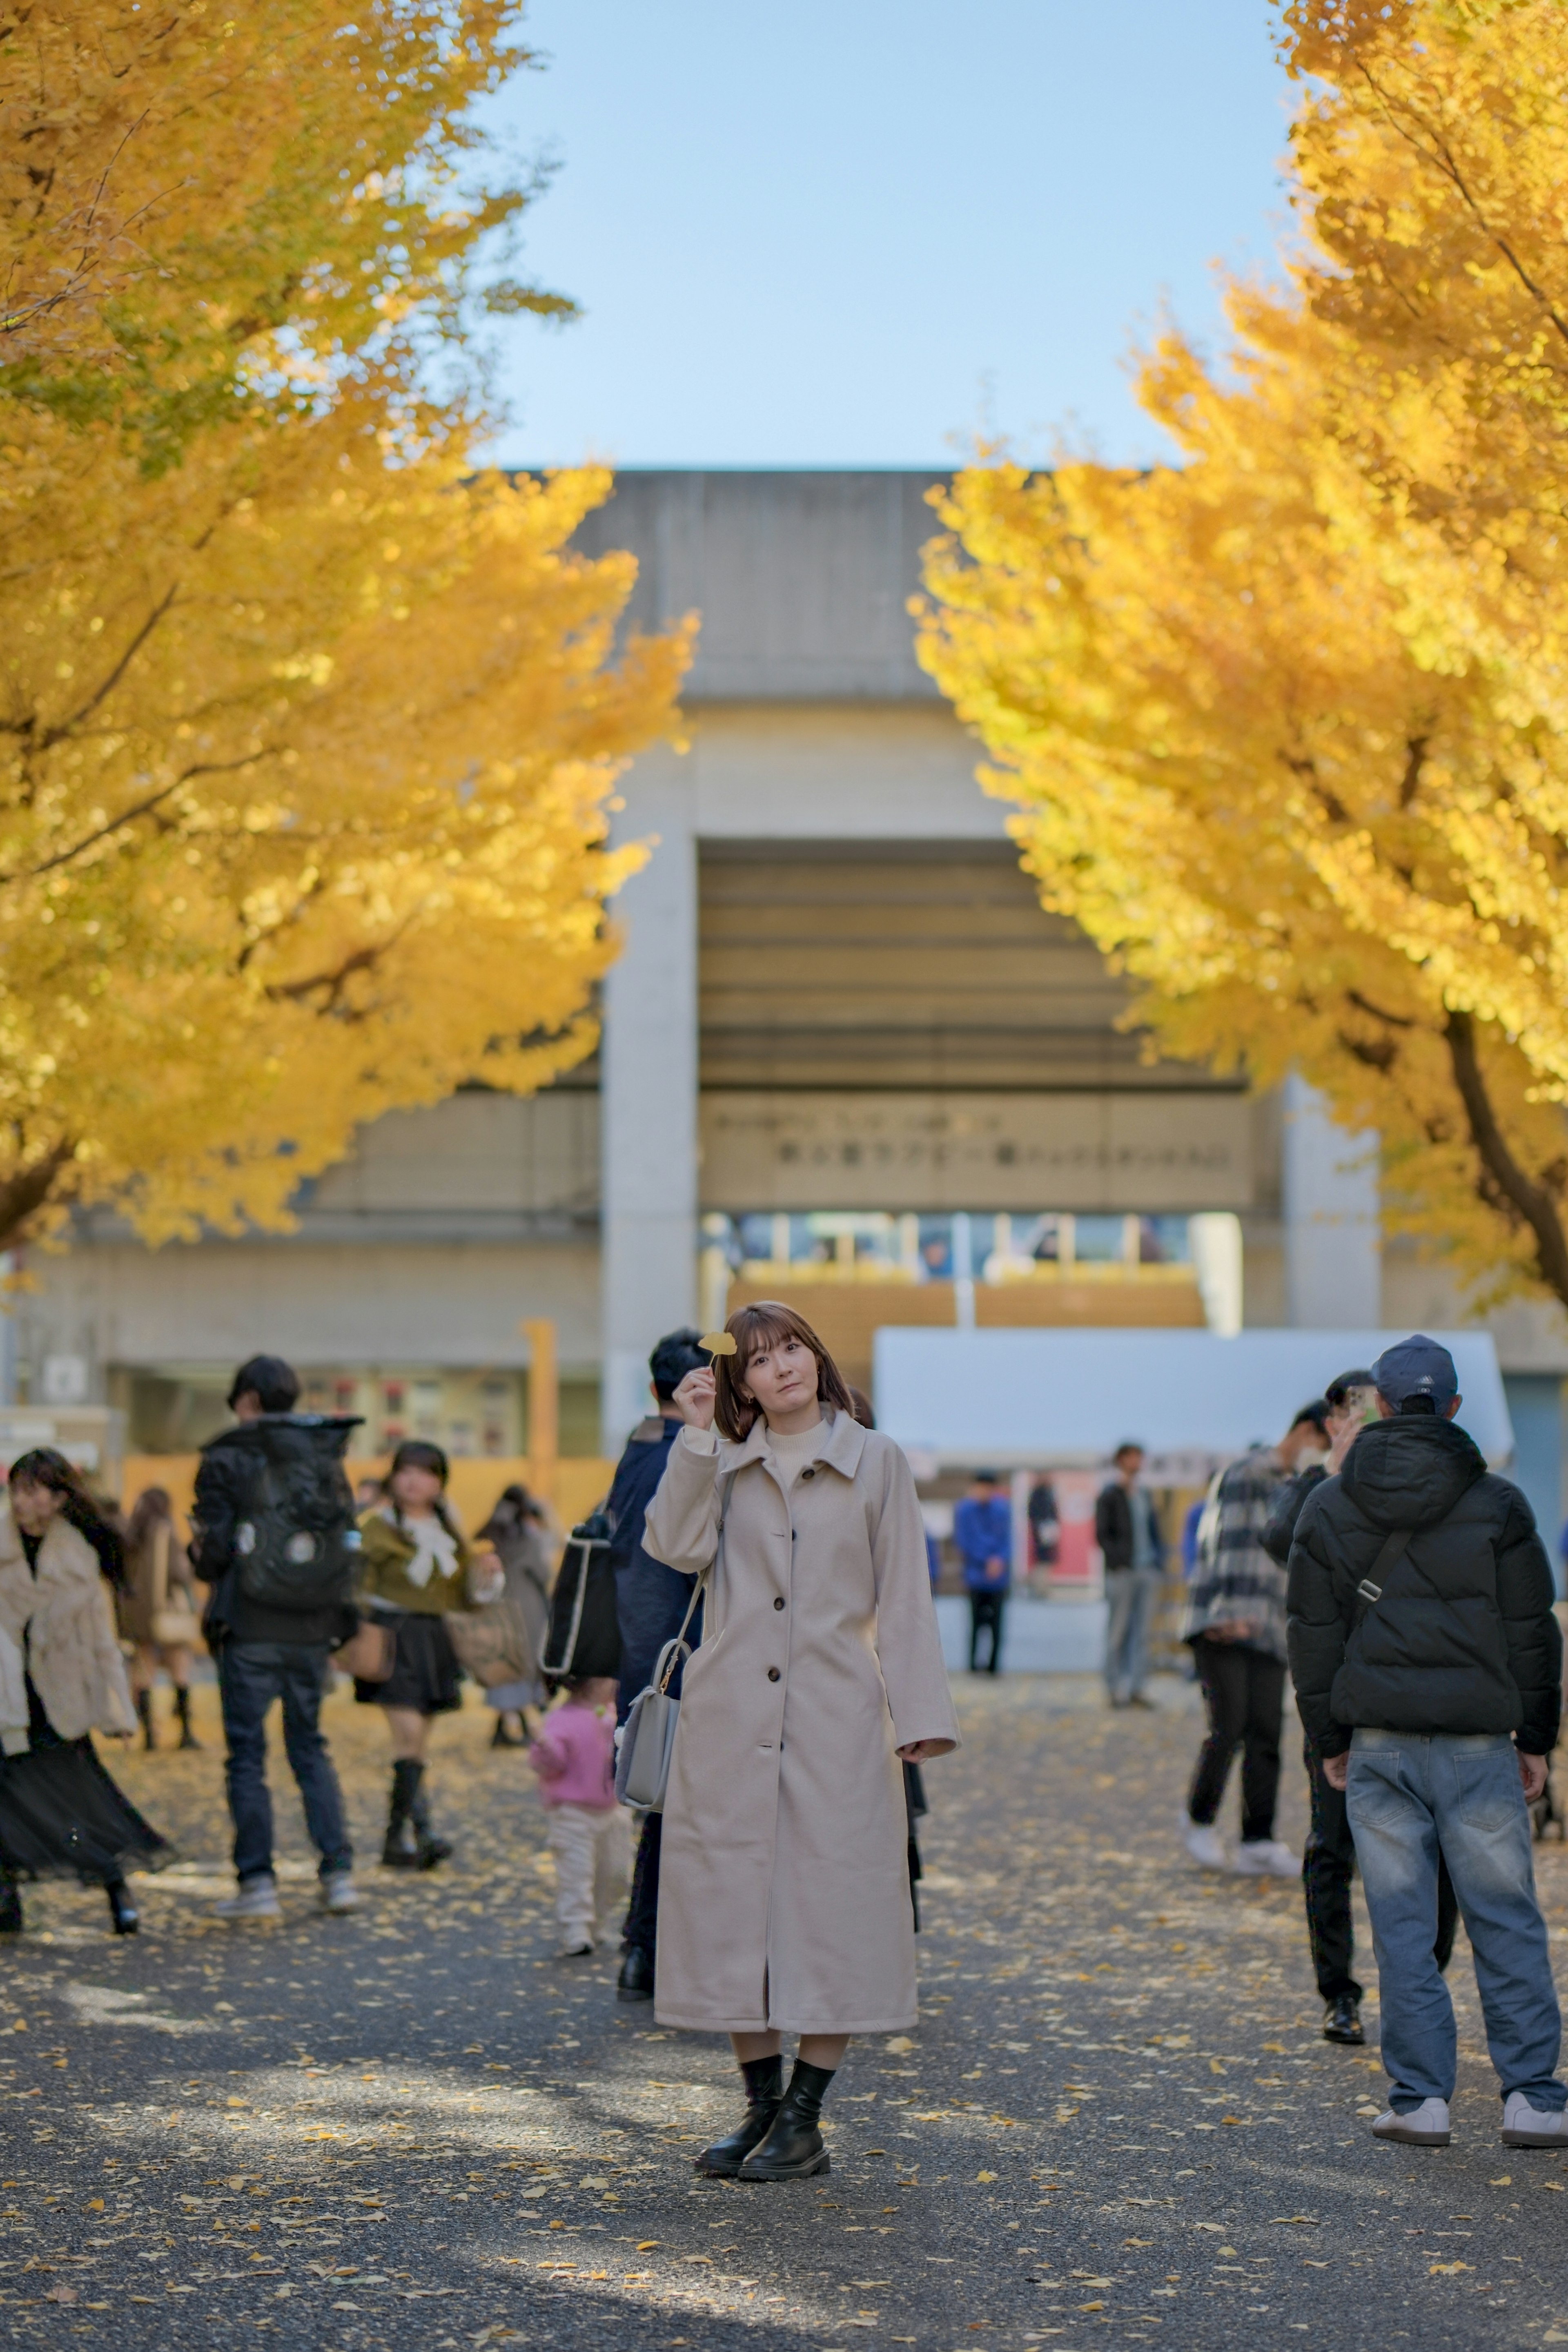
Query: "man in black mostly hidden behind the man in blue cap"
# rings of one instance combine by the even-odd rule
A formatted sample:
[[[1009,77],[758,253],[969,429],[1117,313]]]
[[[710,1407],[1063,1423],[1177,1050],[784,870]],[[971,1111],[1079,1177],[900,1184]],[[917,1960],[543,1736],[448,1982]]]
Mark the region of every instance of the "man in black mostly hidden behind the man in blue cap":
[[[1281,1569],[1291,1557],[1291,1541],[1307,1508],[1307,1496],[1326,1477],[1340,1475],[1345,1456],[1366,1425],[1368,1414],[1373,1421],[1378,1418],[1378,1383],[1371,1371],[1342,1371],[1338,1381],[1328,1383],[1324,1399],[1328,1404],[1328,1468],[1312,1463],[1309,1470],[1300,1470],[1281,1489],[1269,1524],[1262,1531],[1262,1548]],[[1361,1985],[1352,1973],[1354,1924],[1349,1905],[1349,1882],[1356,1875],[1356,1842],[1349,1835],[1345,1792],[1331,1788],[1324,1778],[1324,1759],[1309,1738],[1302,1738],[1302,1762],[1312,1792],[1312,1830],[1302,1849],[1302,1896],[1307,1900],[1307,1943],[1312,1945],[1316,1990],[1324,2002],[1324,2042],[1359,2046],[1366,2042],[1366,2032],[1361,2030]],[[1448,1863],[1439,1853],[1436,1938],[1432,1945],[1439,1969],[1446,1969],[1453,1959],[1458,1919],[1460,1905],[1453,1893],[1453,1879],[1448,1877]]]

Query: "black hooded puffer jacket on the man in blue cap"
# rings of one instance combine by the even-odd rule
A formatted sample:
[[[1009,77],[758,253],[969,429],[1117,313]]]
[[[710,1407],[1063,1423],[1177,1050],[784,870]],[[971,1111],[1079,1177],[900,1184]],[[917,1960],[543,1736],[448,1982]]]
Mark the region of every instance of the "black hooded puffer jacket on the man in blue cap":
[[[1401,1559],[1378,1573],[1394,1529]],[[1382,1585],[1368,1604],[1361,1581]],[[1514,1731],[1552,1755],[1563,1637],[1519,1486],[1450,1421],[1375,1421],[1305,1503],[1291,1545],[1288,1649],[1307,1738],[1335,1757],[1378,1731]]]

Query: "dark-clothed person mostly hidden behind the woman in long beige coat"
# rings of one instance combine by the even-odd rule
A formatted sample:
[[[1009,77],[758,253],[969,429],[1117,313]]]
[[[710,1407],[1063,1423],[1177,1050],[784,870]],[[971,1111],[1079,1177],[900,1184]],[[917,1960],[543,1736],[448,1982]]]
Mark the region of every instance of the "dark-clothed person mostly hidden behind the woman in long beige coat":
[[[656,1411],[632,1430],[625,1454],[616,1465],[616,1482],[609,1489],[607,1515],[614,1529],[609,1559],[616,1571],[616,1616],[621,1618],[621,1722],[625,1722],[637,1691],[654,1677],[658,1651],[679,1632],[679,1623],[691,1599],[691,1578],[677,1576],[663,1559],[654,1559],[642,1548],[642,1524],[649,1503],[658,1491],[670,1461],[670,1446],[682,1432],[684,1414],[675,1402],[675,1390],[689,1371],[705,1371],[708,1357],[693,1329],[665,1331],[649,1357],[649,1390]],[[686,1628],[686,1642],[696,1646],[703,1632],[703,1609]],[[679,1698],[679,1670],[670,1679],[670,1691]],[[616,1980],[616,1997],[623,2002],[654,1999],[654,1950],[658,1943],[658,1839],[663,1813],[646,1813],[637,1839],[632,1865],[632,1898],[625,1912],[625,1957]]]

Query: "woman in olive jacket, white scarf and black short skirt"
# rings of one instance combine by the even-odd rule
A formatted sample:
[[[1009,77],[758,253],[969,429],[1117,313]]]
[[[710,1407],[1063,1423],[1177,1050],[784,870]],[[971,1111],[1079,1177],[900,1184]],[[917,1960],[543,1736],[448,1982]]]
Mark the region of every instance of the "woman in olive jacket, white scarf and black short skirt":
[[[393,1738],[381,1860],[388,1870],[435,1870],[451,1846],[430,1828],[423,1785],[430,1717],[463,1705],[444,1616],[498,1599],[503,1571],[465,1543],[447,1503],[447,1456],[423,1437],[404,1437],[393,1454],[386,1501],[360,1519],[360,1604],[395,1642],[390,1677],[355,1682],[355,1698],[383,1708]]]

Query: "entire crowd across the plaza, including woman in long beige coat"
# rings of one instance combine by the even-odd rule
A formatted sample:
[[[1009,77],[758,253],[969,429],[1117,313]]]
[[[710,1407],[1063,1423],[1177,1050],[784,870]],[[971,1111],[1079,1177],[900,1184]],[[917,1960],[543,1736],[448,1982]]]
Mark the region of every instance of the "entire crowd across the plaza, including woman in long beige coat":
[[[903,1451],[792,1308],[741,1308],[708,1338],[672,1331],[649,1374],[654,1409],[604,1510],[574,1529],[559,1578],[545,1508],[510,1486],[468,1536],[447,1458],[423,1439],[353,1496],[355,1423],[301,1414],[277,1357],[235,1374],[188,1545],[162,1489],[120,1522],[63,1456],[12,1463],[0,1933],[21,1931],[19,1882],[42,1872],[101,1884],[115,1933],[136,1931],[129,1875],[169,1846],[92,1733],[141,1731],[153,1748],[165,1670],[179,1745],[193,1748],[197,1639],[216,1665],[233,1818],[235,1893],[219,1912],[237,1922],[280,1915],[273,1700],[322,1907],[348,1912],[355,1856],[322,1736],[331,1668],[386,1719],[388,1870],[435,1870],[451,1853],[433,1820],[428,1743],[468,1672],[496,1745],[531,1757],[562,1957],[618,1938],[623,2002],[731,2037],[745,2112],[698,2169],[827,2171],[820,2105],[849,2037],[917,2018],[919,1769],[957,1745],[929,1534]],[[1486,1468],[1460,1404],[1450,1355],[1418,1336],[1340,1374],[1274,1446],[1215,1477],[1185,1602],[1206,1738],[1182,1839],[1201,1867],[1300,1870],[1324,2032],[1347,2044],[1363,2039],[1349,1905],[1361,1870],[1389,2074],[1373,2131],[1387,2140],[1448,2143],[1458,2051],[1443,1969],[1465,1917],[1502,2138],[1556,2147],[1568,2091],[1528,1806],[1556,1745],[1563,1646],[1530,1505]],[[1105,1677],[1112,1705],[1138,1708],[1166,1545],[1143,1449],[1124,1444],[1112,1472],[1095,1508]],[[1039,1522],[1053,1541],[1056,1510]],[[954,1545],[971,1665],[985,1649],[990,1672],[1011,1541],[1001,1479],[980,1472],[954,1510]],[[1300,1860],[1276,1837],[1286,1684],[1312,1804]],[[1237,1757],[1229,1853],[1218,1823]],[[797,2037],[788,2086],[783,2034]]]

